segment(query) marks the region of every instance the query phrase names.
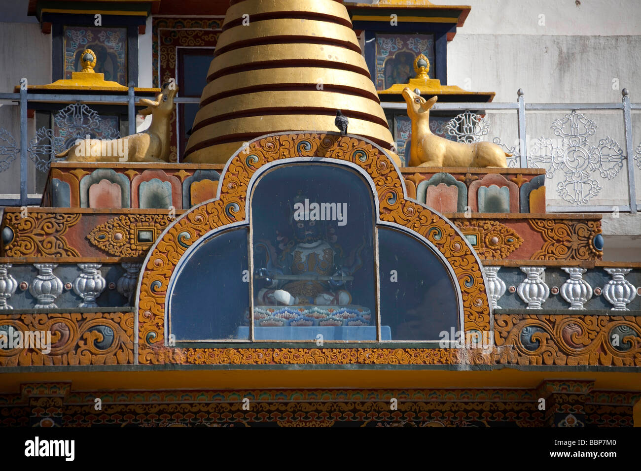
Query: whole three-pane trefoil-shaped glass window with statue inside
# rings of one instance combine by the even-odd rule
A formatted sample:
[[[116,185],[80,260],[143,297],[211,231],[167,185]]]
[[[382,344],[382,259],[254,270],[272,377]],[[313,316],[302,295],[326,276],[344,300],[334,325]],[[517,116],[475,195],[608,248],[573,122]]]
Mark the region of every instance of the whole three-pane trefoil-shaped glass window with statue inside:
[[[424,240],[377,225],[373,196],[344,165],[264,172],[247,195],[249,224],[194,244],[176,270],[169,333],[176,342],[433,342],[458,330],[450,270]]]

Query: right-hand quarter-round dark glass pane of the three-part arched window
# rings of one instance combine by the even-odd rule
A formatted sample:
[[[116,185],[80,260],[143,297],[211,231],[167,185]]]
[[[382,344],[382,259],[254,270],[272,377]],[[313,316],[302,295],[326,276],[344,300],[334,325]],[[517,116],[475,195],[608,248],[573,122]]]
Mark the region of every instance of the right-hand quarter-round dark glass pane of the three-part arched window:
[[[440,340],[458,330],[458,301],[438,256],[413,236],[378,229],[381,331],[392,340]]]

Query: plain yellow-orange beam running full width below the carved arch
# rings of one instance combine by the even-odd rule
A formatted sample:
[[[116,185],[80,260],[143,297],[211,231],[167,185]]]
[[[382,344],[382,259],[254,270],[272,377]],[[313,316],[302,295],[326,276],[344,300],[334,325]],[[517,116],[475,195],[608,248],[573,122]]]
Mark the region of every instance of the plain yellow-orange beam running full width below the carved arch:
[[[7,368],[4,368],[6,370]],[[72,390],[178,390],[246,388],[528,388],[544,380],[585,379],[595,390],[640,391],[637,372],[551,372],[511,368],[449,370],[155,370],[1,373],[0,393],[17,393],[21,383],[71,381]],[[635,408],[641,419],[641,409]]]

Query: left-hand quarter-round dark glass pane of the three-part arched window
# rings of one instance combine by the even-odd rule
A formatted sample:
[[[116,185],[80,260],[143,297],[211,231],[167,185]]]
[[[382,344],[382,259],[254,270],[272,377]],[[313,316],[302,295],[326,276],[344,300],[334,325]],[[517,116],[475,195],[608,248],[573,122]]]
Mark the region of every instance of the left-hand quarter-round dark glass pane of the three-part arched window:
[[[214,236],[192,252],[171,295],[176,341],[248,340],[249,329],[240,328],[249,325],[249,278],[244,270],[246,228]]]

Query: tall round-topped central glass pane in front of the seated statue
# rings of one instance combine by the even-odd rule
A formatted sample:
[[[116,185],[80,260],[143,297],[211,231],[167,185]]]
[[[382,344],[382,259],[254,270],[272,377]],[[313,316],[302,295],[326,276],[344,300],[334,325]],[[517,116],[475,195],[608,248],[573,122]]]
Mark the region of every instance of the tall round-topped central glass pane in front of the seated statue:
[[[351,170],[272,170],[252,197],[256,340],[376,340],[374,213]]]

